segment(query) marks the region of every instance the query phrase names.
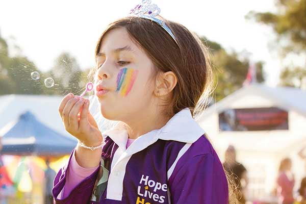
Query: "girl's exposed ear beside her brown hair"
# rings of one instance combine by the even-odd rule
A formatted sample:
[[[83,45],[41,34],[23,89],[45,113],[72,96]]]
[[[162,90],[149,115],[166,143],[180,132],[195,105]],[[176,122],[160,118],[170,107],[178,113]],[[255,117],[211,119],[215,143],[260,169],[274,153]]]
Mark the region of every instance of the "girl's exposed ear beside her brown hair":
[[[177,78],[173,71],[160,72],[155,83],[155,94],[157,96],[164,96],[174,89],[177,84]]]

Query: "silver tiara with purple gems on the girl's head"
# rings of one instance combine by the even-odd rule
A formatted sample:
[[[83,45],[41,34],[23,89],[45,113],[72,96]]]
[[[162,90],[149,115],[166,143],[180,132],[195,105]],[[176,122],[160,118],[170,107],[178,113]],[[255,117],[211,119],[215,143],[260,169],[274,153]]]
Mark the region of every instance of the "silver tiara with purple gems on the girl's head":
[[[155,17],[159,15],[160,12],[161,9],[158,8],[156,4],[151,4],[151,0],[142,0],[141,4],[138,4],[134,9],[131,9],[130,14],[157,22],[176,42],[171,29],[166,25],[166,23]]]

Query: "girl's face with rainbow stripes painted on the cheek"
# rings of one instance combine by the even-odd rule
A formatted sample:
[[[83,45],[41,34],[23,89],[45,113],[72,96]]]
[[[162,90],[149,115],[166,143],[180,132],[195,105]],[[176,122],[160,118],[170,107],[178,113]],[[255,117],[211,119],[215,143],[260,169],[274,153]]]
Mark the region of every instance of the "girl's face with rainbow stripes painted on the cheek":
[[[154,106],[154,66],[124,28],[103,37],[96,66],[95,95],[105,118],[126,122]]]

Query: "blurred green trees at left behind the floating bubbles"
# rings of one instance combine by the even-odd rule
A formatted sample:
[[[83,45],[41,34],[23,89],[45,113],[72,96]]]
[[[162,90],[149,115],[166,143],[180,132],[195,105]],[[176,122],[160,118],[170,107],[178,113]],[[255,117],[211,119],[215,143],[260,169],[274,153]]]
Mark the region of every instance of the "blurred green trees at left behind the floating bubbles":
[[[81,94],[85,90],[89,71],[82,71],[77,60],[69,53],[60,54],[53,68],[43,73],[27,57],[20,54],[10,57],[9,51],[7,41],[0,37],[0,95],[12,93],[64,95],[69,92]],[[38,80],[31,78],[31,73],[34,71],[40,74]],[[54,80],[53,87],[45,86],[46,78]]]

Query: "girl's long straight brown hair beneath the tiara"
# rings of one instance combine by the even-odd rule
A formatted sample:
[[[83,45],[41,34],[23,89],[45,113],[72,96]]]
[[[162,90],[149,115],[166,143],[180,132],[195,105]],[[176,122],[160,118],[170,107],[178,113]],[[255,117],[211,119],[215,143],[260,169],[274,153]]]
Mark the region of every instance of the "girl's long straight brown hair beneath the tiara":
[[[172,37],[156,22],[145,18],[125,17],[108,25],[101,34],[95,49],[99,52],[101,41],[112,29],[125,28],[131,39],[138,44],[154,64],[154,72],[172,71],[176,74],[177,84],[172,90],[167,114],[189,108],[193,117],[207,105],[213,91],[213,74],[206,47],[199,37],[192,34],[180,23],[163,19],[175,36]],[[228,177],[227,177],[228,178]],[[231,180],[228,180],[230,203],[238,203]]]

